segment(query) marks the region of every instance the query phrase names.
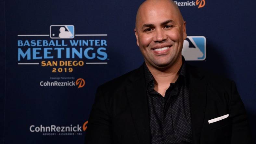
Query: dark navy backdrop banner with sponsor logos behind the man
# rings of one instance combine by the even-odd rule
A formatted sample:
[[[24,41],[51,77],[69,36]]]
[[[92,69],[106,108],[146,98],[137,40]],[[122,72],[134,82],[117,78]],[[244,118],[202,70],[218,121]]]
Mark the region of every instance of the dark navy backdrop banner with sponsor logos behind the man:
[[[1,1],[1,143],[83,143],[96,88],[143,63],[142,0]],[[255,134],[255,2],[177,0],[189,64],[233,79]]]

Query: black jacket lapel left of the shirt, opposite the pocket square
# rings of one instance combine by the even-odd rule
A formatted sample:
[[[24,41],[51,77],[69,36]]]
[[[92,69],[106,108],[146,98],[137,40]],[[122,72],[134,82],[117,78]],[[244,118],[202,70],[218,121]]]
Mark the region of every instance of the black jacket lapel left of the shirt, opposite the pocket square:
[[[130,77],[130,84],[126,86],[133,122],[140,143],[150,144],[150,128],[148,116],[148,103],[143,65],[134,71]]]

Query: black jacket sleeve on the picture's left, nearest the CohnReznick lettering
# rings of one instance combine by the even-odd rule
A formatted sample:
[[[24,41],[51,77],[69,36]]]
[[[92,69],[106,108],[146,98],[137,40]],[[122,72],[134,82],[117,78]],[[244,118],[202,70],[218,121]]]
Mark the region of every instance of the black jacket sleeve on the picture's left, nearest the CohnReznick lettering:
[[[98,88],[87,124],[85,144],[110,144],[110,126],[111,121],[104,99],[104,93]]]

